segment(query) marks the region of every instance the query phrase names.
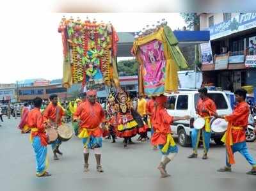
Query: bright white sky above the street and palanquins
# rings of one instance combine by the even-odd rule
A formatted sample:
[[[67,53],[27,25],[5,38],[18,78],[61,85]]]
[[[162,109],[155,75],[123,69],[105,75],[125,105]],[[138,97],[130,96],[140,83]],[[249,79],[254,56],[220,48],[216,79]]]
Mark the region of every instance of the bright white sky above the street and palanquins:
[[[173,30],[186,26],[179,13],[53,13],[31,11],[29,6],[22,12],[0,11],[0,83],[62,77],[63,48],[57,30],[63,15],[111,21],[117,32],[140,31],[163,18]]]

